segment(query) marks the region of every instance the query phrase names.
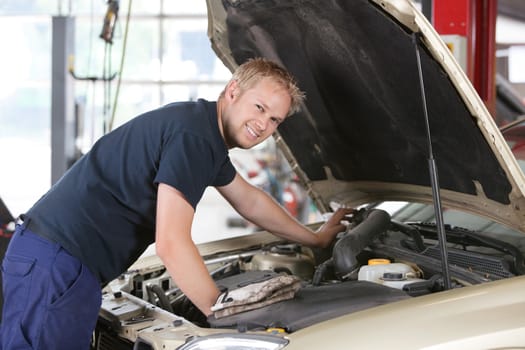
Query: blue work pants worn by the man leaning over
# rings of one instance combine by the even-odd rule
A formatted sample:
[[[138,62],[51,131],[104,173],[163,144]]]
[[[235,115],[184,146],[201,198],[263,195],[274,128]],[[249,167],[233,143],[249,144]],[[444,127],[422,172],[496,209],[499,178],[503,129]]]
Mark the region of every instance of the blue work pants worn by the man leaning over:
[[[2,277],[0,349],[89,349],[101,288],[77,258],[18,226]]]

